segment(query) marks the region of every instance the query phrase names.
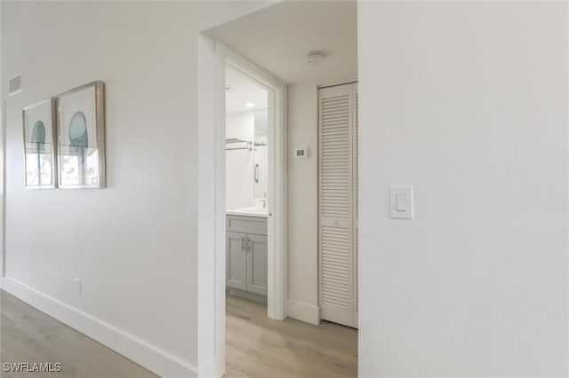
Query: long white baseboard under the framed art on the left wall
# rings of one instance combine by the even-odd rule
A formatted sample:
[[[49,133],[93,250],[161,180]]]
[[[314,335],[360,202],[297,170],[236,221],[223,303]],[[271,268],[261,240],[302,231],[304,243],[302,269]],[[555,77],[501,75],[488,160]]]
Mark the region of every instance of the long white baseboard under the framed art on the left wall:
[[[115,350],[126,358],[132,359],[140,366],[162,377],[196,377],[196,367],[181,361],[164,350],[130,335],[124,330],[112,326],[100,319],[79,311],[68,304],[44,295],[31,287],[27,287],[16,280],[4,277],[2,288],[20,298],[25,303],[36,307],[52,318],[75,328],[77,331],[91,337],[99,343]]]

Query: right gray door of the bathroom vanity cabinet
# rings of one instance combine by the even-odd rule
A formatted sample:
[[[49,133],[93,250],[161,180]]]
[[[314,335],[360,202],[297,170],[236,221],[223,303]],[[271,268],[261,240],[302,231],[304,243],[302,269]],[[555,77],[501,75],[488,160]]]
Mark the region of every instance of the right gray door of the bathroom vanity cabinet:
[[[267,295],[267,237],[247,234],[247,291]]]

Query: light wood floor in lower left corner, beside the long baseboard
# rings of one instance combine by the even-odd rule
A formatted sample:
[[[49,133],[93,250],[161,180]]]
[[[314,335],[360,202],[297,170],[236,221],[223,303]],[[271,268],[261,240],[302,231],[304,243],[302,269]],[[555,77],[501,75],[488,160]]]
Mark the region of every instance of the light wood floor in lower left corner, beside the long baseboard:
[[[60,373],[6,373],[12,377],[145,378],[142,366],[1,291],[0,361],[61,364]]]

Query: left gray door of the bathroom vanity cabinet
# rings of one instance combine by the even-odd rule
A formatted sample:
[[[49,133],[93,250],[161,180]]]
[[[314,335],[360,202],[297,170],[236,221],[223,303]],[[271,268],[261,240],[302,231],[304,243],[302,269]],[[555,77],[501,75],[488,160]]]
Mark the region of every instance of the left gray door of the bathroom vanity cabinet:
[[[226,285],[247,289],[247,250],[244,233],[226,232]]]

